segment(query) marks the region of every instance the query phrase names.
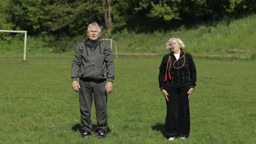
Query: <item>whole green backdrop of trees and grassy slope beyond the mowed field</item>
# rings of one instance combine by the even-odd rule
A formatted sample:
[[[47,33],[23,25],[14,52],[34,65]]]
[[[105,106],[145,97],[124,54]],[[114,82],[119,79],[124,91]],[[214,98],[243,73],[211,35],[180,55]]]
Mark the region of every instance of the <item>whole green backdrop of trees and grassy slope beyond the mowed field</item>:
[[[256,1],[112,0],[112,34],[104,33],[102,0],[0,1],[0,29],[28,31],[27,52],[69,52],[87,37],[88,23],[103,26],[119,53],[165,53],[180,37],[198,55],[255,58]],[[239,19],[237,19],[239,18]],[[24,36],[0,33],[0,53],[22,52]],[[241,43],[242,42],[242,43]],[[243,44],[245,43],[245,44]]]

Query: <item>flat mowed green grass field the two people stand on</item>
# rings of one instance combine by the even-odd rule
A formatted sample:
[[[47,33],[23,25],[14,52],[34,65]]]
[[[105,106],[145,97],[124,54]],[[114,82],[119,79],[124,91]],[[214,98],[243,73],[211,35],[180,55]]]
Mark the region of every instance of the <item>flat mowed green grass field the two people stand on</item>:
[[[78,93],[71,88],[73,53],[0,54],[0,143],[256,143],[256,63],[197,59],[189,139],[163,135],[161,57],[119,57],[108,95],[108,134],[80,136]],[[96,127],[95,107],[92,123]]]

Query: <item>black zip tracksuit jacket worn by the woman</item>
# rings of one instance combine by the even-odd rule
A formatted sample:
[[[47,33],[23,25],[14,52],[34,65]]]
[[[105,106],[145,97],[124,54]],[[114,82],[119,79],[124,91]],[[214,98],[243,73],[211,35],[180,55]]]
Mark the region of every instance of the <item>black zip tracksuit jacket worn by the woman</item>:
[[[185,55],[185,58],[182,57],[183,55]],[[171,56],[171,64],[170,62],[168,63],[169,56]],[[158,77],[159,87],[161,90],[165,89],[165,86],[179,88],[179,87],[185,87],[190,85],[191,88],[195,88],[196,67],[195,67],[195,63],[193,61],[192,56],[189,53],[185,53],[184,51],[181,50],[181,54],[179,57],[180,58],[178,59],[177,62],[175,62],[177,59],[173,55],[173,52],[168,53],[164,55],[164,57],[162,57],[162,62],[159,67],[159,77]],[[185,60],[185,63],[184,63],[184,60]],[[174,63],[174,67],[176,68],[181,67],[183,63],[184,65],[183,67],[176,69],[173,67],[173,63]],[[166,66],[167,66],[167,81],[165,81]],[[170,68],[171,80],[168,76],[169,68]]]

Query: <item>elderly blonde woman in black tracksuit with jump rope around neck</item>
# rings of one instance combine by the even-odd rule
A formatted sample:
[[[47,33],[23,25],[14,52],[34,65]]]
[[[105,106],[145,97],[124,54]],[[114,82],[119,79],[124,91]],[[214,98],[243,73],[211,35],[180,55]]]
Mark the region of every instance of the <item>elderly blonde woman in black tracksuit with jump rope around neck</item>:
[[[196,86],[196,67],[192,56],[183,51],[179,38],[171,38],[159,67],[159,87],[166,100],[165,133],[168,140],[186,139],[190,131],[189,99]]]

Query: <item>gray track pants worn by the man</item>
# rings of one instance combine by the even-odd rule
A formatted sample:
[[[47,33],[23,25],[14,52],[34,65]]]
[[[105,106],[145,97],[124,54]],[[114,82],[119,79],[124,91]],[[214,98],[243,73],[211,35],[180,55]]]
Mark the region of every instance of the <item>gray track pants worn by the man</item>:
[[[108,127],[107,93],[105,91],[106,80],[88,81],[80,79],[79,85],[79,104],[82,130],[92,133],[91,104],[93,94],[97,117],[97,128],[95,131],[106,131]]]

